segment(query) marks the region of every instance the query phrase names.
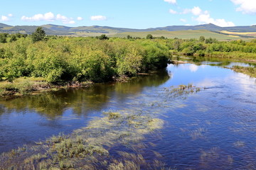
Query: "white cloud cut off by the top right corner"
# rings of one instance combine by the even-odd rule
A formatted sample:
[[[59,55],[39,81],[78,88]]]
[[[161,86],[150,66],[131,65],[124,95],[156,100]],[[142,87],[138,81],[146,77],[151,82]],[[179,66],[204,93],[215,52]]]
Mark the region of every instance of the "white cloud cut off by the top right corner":
[[[233,4],[239,6],[236,11],[242,13],[256,14],[256,1],[255,0],[230,0]]]

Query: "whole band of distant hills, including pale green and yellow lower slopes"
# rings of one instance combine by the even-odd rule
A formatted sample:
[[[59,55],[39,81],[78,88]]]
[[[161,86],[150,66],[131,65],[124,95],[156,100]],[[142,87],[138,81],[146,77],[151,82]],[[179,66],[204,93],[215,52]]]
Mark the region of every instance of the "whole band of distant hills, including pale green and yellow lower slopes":
[[[228,36],[228,37],[238,37],[238,38],[255,38],[256,26],[235,26],[235,27],[220,27],[215,26],[212,23],[203,24],[198,26],[166,26],[159,28],[147,28],[147,29],[132,29],[132,28],[114,28],[109,26],[79,26],[79,27],[68,27],[68,26],[58,26],[53,24],[47,24],[41,26],[43,30],[46,31],[47,35],[72,35],[72,36],[97,36],[100,34],[107,34],[109,36],[124,36],[124,35],[145,35],[145,34],[163,34],[166,37],[173,37],[177,33],[167,33],[170,31],[181,31],[181,30],[200,30],[199,32],[191,32],[204,35],[205,32],[202,30],[208,30],[207,35],[217,35]],[[9,26],[4,23],[0,23],[0,33],[33,33],[38,26]],[[167,32],[155,32],[155,31],[167,31]],[[209,33],[209,32],[212,33]],[[250,32],[250,33],[249,33]],[[188,32],[183,32],[187,35]],[[248,33],[248,34],[247,34]],[[181,37],[181,36],[176,36]],[[188,36],[194,37],[194,36]],[[225,38],[228,38],[225,37]],[[220,38],[221,39],[221,38]]]

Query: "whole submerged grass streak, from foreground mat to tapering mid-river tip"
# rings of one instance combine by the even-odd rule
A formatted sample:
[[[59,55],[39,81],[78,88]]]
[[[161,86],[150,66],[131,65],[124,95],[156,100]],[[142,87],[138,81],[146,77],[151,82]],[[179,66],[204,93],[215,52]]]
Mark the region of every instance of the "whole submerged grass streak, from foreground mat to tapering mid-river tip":
[[[142,141],[146,135],[156,135],[163,128],[164,120],[157,115],[171,106],[171,98],[182,98],[200,90],[192,84],[171,86],[152,94],[151,98],[144,96],[143,105],[133,101],[140,108],[134,104],[120,111],[104,111],[102,117],[92,119],[86,127],[69,135],[56,135],[2,154],[0,169],[170,169],[158,160],[161,154],[152,149],[150,152],[156,159],[147,161],[144,150],[154,144],[146,145]],[[156,96],[164,101],[151,100]],[[147,103],[146,98],[154,104]]]

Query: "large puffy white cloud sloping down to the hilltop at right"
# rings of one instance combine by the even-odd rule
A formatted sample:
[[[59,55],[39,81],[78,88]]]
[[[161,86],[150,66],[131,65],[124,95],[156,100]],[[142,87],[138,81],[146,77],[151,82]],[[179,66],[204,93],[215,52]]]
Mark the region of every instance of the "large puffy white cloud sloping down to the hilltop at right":
[[[231,21],[225,21],[225,19],[215,19],[210,17],[210,13],[208,11],[203,11],[200,7],[194,6],[191,9],[184,9],[183,14],[192,13],[194,16],[197,16],[195,18],[198,23],[204,24],[204,23],[213,23],[216,26],[221,27],[229,27],[229,26],[235,26],[235,24]]]

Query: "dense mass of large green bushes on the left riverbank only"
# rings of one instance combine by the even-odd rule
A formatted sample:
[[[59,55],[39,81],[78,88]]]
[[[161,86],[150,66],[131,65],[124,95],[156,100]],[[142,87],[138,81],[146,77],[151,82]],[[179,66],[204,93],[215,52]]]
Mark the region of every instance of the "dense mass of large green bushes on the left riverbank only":
[[[120,75],[165,67],[169,48],[159,40],[31,37],[0,45],[0,79],[43,77],[46,81],[110,81]]]

